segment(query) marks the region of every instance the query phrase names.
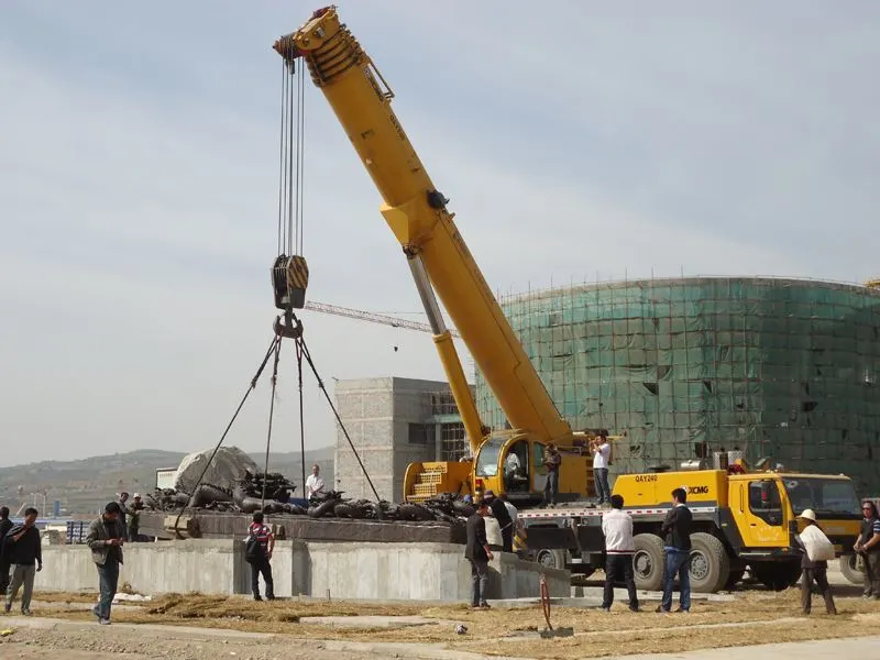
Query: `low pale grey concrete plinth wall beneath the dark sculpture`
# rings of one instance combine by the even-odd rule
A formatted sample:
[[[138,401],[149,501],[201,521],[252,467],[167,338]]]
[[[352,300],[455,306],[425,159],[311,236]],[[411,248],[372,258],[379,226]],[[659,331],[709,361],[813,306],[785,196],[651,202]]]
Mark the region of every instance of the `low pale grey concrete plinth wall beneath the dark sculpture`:
[[[43,549],[37,591],[97,590],[85,546]],[[272,559],[275,594],[346,600],[468,601],[471,566],[453,543],[318,543],[278,541]],[[541,573],[551,596],[570,594],[570,573],[542,569],[514,554],[491,564],[490,598],[535,597]],[[249,594],[250,566],[240,540],[190,539],[125,548],[120,585],[142,594]],[[261,581],[262,583],[262,581]],[[261,586],[262,591],[262,586]]]

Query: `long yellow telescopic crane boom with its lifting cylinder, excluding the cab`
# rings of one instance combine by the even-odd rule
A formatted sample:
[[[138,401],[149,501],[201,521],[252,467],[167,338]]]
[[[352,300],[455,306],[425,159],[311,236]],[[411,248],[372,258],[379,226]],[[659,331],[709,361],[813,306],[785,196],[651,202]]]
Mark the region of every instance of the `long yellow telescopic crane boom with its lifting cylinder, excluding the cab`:
[[[431,182],[392,110],[393,91],[340,22],[336,8],[316,11],[274,48],[289,63],[306,62],[382,195],[381,212],[409,261],[472,450],[485,428],[435,292],[509,424],[543,441],[570,439],[571,427],[529,362],[455,227],[448,200]]]

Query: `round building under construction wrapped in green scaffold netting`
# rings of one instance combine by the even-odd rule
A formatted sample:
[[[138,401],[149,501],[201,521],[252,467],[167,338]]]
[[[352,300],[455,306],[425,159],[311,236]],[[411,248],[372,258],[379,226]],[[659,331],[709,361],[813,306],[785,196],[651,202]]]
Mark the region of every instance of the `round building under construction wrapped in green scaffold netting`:
[[[880,493],[880,289],[642,279],[502,307],[572,426],[627,432],[615,472],[674,466],[706,442]],[[504,427],[479,373],[476,395],[484,421]]]

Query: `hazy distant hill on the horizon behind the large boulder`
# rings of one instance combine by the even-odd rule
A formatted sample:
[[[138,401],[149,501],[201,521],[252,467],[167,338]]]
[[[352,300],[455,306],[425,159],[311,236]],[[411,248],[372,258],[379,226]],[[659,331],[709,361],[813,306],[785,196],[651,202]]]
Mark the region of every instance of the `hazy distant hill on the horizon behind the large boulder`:
[[[248,453],[262,470],[265,453]],[[8,506],[15,514],[22,504],[28,504],[36,506],[41,515],[48,515],[52,513],[52,503],[57,499],[64,515],[91,515],[114,499],[122,490],[132,494],[152,493],[156,484],[156,470],[177,468],[185,455],[182,452],[140,449],[76,461],[40,461],[0,468],[0,505]],[[321,476],[328,484],[334,483],[332,447],[306,450],[306,475],[311,473],[314,463],[321,466]],[[299,452],[270,452],[268,470],[280,472],[296,484],[295,496],[302,493]],[[38,494],[36,497],[35,493]]]

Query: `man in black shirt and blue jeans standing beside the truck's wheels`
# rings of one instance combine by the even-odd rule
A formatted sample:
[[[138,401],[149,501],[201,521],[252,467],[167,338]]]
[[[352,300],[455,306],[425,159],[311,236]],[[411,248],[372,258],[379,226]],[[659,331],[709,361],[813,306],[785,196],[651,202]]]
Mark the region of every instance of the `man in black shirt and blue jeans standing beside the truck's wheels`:
[[[672,508],[669,509],[660,534],[663,535],[666,570],[663,572],[663,598],[657,612],[672,609],[672,583],[679,576],[679,607],[675,612],[691,609],[691,524],[693,516],[685,504],[688,492],[684,488],[672,491]]]

